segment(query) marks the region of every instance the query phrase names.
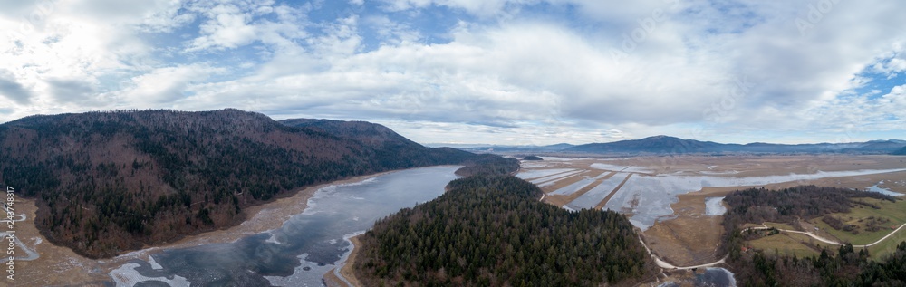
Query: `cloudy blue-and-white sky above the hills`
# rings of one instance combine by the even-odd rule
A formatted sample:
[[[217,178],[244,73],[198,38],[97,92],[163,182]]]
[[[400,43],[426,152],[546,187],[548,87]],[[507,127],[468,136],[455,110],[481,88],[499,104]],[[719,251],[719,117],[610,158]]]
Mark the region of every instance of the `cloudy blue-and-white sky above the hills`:
[[[0,0],[0,122],[236,108],[421,143],[906,139],[906,2]]]

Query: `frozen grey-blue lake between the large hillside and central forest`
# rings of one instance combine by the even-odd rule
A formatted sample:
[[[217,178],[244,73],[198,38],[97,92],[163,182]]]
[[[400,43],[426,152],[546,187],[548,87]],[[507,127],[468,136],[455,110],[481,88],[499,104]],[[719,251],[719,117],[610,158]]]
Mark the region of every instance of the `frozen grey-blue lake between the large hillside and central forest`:
[[[111,273],[143,286],[164,279],[200,286],[322,286],[322,277],[349,253],[347,239],[400,208],[440,196],[458,167],[422,167],[324,187],[271,232],[229,244],[168,249],[152,263],[133,260]],[[166,286],[166,285],[164,285]]]

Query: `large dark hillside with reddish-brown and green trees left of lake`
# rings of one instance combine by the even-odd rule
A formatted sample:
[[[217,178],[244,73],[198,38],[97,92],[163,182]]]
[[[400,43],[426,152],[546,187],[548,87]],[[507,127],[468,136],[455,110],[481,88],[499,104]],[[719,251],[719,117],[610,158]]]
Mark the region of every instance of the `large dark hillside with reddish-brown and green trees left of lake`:
[[[242,110],[32,116],[0,125],[0,182],[38,198],[35,223],[54,243],[106,257],[236,224],[298,187],[478,158],[366,122],[302,122]]]

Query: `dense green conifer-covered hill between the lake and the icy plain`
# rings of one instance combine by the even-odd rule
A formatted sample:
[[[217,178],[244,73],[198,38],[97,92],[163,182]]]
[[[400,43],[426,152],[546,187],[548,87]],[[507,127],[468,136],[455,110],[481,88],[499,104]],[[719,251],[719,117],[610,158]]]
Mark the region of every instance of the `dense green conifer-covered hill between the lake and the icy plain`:
[[[625,216],[570,212],[541,189],[480,173],[450,182],[361,236],[356,277],[366,286],[631,285],[654,264]]]

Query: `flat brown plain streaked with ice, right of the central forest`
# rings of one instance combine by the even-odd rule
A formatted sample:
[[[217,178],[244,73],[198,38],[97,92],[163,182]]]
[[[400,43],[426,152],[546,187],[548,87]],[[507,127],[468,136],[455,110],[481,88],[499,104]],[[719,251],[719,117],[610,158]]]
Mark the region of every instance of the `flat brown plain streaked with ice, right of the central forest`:
[[[818,185],[906,194],[906,158],[894,156],[544,159],[517,176],[542,183],[545,202],[621,212],[652,250],[678,266],[718,259],[722,199],[737,189]]]

